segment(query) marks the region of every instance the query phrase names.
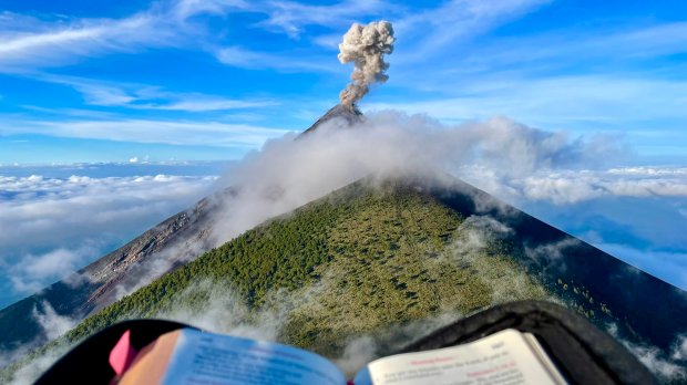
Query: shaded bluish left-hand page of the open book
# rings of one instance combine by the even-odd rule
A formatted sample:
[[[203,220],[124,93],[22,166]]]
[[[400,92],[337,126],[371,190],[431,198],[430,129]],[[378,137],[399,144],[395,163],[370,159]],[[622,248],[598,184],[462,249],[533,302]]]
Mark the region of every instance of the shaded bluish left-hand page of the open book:
[[[162,384],[344,385],[346,377],[326,358],[296,347],[185,329]]]

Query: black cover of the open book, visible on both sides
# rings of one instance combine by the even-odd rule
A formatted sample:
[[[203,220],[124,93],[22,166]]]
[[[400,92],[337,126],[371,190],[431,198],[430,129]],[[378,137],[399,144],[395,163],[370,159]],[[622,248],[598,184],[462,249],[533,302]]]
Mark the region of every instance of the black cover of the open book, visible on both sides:
[[[141,350],[160,335],[192,327],[161,320],[125,321],[82,342],[37,384],[109,384],[114,377],[110,352],[131,331],[131,344]],[[484,310],[412,343],[398,353],[453,346],[504,329],[534,334],[571,384],[656,384],[656,379],[625,347],[586,319],[542,301],[521,301]]]

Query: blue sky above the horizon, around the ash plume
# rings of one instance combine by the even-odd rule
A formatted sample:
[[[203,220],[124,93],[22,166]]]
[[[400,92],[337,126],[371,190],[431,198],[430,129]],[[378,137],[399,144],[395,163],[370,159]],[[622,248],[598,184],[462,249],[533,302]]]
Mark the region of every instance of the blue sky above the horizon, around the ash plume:
[[[227,159],[303,129],[350,74],[337,43],[387,19],[363,111],[506,115],[687,156],[683,1],[1,1],[0,163]]]

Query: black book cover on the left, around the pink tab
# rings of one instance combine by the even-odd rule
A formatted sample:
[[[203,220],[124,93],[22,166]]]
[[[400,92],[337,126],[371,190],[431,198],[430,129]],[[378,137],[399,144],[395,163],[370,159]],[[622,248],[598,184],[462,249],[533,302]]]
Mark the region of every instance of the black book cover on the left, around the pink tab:
[[[141,350],[158,336],[182,327],[193,326],[162,320],[120,322],[83,341],[43,373],[35,384],[109,384],[115,374],[110,366],[110,352],[124,332],[131,331],[132,347]]]

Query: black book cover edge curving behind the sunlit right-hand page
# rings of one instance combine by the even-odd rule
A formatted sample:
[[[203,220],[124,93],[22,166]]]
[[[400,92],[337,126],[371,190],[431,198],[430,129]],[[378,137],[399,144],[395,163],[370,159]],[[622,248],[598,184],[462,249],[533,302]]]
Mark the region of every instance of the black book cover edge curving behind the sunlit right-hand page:
[[[656,378],[625,347],[586,319],[543,301],[521,301],[457,321],[400,353],[453,346],[504,329],[537,337],[571,384],[656,384]]]

